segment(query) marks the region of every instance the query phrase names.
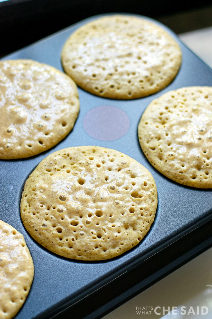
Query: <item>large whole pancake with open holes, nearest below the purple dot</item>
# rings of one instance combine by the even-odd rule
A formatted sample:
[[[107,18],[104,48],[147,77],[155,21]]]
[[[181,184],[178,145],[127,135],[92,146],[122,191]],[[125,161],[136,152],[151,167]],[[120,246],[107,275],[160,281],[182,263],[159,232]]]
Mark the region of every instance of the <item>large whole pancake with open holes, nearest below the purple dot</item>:
[[[54,152],[25,183],[21,218],[31,236],[67,258],[102,260],[137,245],[157,208],[150,172],[118,151],[70,147]]]

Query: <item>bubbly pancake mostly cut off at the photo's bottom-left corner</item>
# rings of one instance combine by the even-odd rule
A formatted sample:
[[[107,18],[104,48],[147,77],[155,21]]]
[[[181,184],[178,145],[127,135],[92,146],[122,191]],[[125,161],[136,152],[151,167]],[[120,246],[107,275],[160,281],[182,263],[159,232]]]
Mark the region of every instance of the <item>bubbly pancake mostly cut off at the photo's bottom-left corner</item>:
[[[34,266],[24,237],[0,220],[0,318],[13,318],[24,304]]]

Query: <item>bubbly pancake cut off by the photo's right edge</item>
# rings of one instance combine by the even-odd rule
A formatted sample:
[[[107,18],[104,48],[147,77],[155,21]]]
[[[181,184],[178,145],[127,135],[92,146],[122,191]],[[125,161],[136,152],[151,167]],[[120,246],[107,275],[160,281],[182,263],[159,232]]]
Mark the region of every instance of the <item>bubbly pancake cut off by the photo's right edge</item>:
[[[145,156],[163,175],[212,187],[212,87],[184,87],[153,100],[138,135]]]

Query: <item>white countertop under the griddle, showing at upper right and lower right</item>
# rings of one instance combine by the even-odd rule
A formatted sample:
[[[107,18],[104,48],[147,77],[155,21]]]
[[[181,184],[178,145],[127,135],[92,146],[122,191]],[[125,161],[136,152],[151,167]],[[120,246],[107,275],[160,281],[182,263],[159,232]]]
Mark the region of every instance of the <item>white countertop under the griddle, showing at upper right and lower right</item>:
[[[212,27],[183,33],[179,37],[212,68]],[[173,312],[168,314],[168,309]],[[104,317],[139,318],[211,319],[212,248]]]

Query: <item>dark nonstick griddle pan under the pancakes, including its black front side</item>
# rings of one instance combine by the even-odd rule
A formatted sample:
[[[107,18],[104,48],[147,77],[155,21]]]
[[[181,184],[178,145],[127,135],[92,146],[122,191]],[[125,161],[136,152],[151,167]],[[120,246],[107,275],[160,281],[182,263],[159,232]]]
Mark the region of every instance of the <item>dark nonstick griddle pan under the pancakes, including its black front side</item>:
[[[79,26],[99,17],[101,16],[85,19],[44,40],[10,54],[2,60],[33,59],[63,70],[60,54],[66,39]],[[143,279],[145,276],[149,276],[148,285],[150,285],[161,278],[162,273],[165,274],[172,269],[171,266],[168,266],[168,259],[167,264],[166,262],[164,264],[164,260],[168,256],[164,256],[164,251],[168,247],[173,247],[171,245],[175,245],[176,257],[178,248],[182,256],[186,253],[188,255],[189,251],[189,258],[195,256],[197,250],[200,251],[204,247],[208,247],[207,243],[209,241],[203,237],[206,234],[209,220],[212,218],[212,190],[193,189],[177,184],[156,171],[141,151],[137,137],[137,127],[147,105],[161,94],[183,86],[212,86],[212,70],[183,45],[167,27],[152,19],[142,18],[164,28],[181,47],[182,65],[173,82],[158,93],[136,100],[105,99],[78,88],[80,99],[79,117],[72,132],[64,140],[50,150],[28,159],[0,161],[0,219],[9,223],[24,235],[35,267],[35,277],[30,293],[24,306],[18,312],[16,319],[46,319],[53,316],[54,318],[100,317],[101,314],[119,304],[121,300],[130,298],[133,293],[147,286],[147,281],[142,280],[142,274]],[[96,116],[97,134],[95,136],[92,136],[92,130],[89,129],[89,116],[93,118],[91,114]],[[120,121],[114,121],[114,119],[119,119],[120,116],[123,118],[124,127],[120,125]],[[99,133],[98,127],[101,127],[101,125],[108,129],[105,129],[104,132],[100,130]],[[120,132],[120,130],[122,131]],[[65,147],[79,145],[98,145],[113,148],[131,156],[147,167],[157,185],[158,208],[150,231],[134,249],[111,260],[82,262],[57,256],[32,239],[25,230],[20,218],[21,193],[29,174],[42,159],[52,152]],[[198,243],[195,241],[196,237],[188,237],[189,234],[193,234],[192,231],[195,229],[201,229],[198,233]],[[207,243],[201,246],[200,242],[203,242],[203,239]],[[177,243],[180,241],[183,244],[181,242],[179,246]],[[192,241],[195,242],[196,247],[200,245],[202,248],[192,250],[189,246],[189,242],[191,243]],[[174,255],[173,250],[172,255]],[[156,270],[159,271],[162,266],[167,266],[167,270],[160,273],[155,272],[154,276],[151,277],[152,269],[149,266],[149,268],[147,267],[147,261],[153,260],[154,256],[157,256],[158,264],[155,264]],[[184,260],[186,260],[186,257]],[[161,264],[162,261],[163,264]],[[181,262],[176,262],[175,267],[179,266]],[[131,277],[127,277],[127,274],[132,274],[133,269],[135,273],[136,269],[139,269],[141,276],[136,277],[136,275],[133,277],[134,289],[129,289],[126,295],[122,295],[121,300],[117,297],[116,301],[108,302],[105,308],[95,311],[95,309],[101,307],[101,295],[111,293],[111,299],[113,299],[115,298],[115,291],[117,291],[117,296],[119,296],[120,293],[129,288]],[[119,279],[114,279],[121,275],[123,275],[125,281],[121,280],[122,286],[121,281],[119,281],[119,284],[117,284],[119,286],[117,286],[116,283],[118,283],[117,280]],[[140,286],[135,288],[139,282]],[[123,283],[126,285],[123,286]],[[118,289],[120,287],[122,287],[122,291]],[[94,293],[97,289],[99,289],[98,292]],[[103,293],[101,294],[100,292]],[[79,302],[80,300],[81,302]],[[83,307],[86,302],[92,305],[92,309],[88,310]],[[61,312],[63,310],[64,312]],[[89,312],[92,312],[92,314],[89,315]]]

